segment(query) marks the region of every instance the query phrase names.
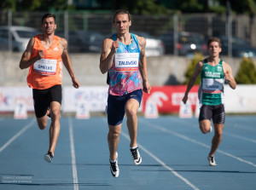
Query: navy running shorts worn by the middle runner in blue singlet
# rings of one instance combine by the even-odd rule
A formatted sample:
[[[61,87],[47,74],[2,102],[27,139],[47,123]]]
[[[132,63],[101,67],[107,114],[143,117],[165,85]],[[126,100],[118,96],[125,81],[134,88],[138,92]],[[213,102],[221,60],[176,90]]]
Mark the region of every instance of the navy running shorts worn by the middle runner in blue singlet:
[[[143,90],[137,89],[127,95],[108,95],[108,124],[119,125],[125,116],[125,104],[131,98],[137,100],[141,105]]]

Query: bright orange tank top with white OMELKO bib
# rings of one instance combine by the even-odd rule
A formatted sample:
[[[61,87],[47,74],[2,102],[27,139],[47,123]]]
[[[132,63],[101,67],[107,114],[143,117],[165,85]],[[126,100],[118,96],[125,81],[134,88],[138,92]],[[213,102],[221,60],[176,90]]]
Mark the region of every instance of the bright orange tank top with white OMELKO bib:
[[[43,49],[44,59],[36,61],[29,67],[26,81],[32,89],[49,89],[56,84],[61,84],[62,60],[60,37],[54,36],[54,41],[49,49],[44,48],[40,37],[40,34],[35,36],[31,58],[38,55],[39,49]]]

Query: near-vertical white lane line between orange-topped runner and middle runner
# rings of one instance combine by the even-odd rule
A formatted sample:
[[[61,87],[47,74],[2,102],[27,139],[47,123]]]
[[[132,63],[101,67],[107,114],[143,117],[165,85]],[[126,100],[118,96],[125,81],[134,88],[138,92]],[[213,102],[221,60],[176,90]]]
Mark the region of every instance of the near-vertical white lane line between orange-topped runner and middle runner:
[[[68,118],[68,125],[69,125],[71,158],[72,158],[72,170],[73,170],[73,189],[79,190],[79,180],[78,180],[76,156],[75,156],[74,142],[73,142],[73,124],[72,124],[71,118]]]

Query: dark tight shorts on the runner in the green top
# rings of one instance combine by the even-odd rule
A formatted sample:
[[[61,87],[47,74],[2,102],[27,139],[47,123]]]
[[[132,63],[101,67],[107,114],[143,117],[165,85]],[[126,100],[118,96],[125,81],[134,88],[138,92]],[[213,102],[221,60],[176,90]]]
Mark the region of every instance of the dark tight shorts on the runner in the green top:
[[[208,119],[211,120],[213,124],[224,124],[225,123],[225,110],[224,105],[216,105],[216,106],[207,106],[202,105],[199,114],[199,121]]]

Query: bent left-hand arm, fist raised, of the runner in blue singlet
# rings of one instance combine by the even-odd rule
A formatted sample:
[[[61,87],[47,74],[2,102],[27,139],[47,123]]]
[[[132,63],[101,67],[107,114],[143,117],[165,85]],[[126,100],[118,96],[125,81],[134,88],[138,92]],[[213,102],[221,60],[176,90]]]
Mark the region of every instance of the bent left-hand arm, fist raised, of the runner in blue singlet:
[[[119,48],[119,39],[113,41],[111,38],[105,38],[102,42],[102,54],[100,59],[100,69],[102,74],[108,72],[113,64],[113,56]]]

